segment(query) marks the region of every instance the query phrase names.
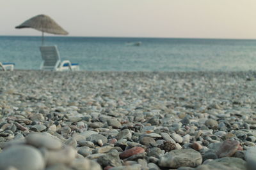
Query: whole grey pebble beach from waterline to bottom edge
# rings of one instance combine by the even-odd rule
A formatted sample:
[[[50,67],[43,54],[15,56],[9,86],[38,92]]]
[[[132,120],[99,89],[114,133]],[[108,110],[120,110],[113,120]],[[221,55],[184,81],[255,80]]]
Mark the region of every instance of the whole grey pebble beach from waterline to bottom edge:
[[[0,71],[0,169],[253,169],[255,78]]]

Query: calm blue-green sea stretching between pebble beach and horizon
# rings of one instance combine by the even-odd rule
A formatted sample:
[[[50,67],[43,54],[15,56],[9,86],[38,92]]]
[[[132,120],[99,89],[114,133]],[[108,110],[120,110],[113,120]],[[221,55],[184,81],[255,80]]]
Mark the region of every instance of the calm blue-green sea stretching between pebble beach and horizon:
[[[127,42],[141,41],[141,46]],[[40,36],[0,36],[0,61],[16,69],[39,69]],[[256,40],[173,38],[88,38],[47,36],[61,60],[87,71],[256,70]]]

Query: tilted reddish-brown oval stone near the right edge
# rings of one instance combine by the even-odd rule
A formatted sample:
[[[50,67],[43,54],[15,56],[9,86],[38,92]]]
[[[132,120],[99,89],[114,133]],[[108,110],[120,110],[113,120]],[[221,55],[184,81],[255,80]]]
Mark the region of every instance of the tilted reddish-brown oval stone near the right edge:
[[[232,155],[234,155],[234,153],[236,153],[236,151],[238,150],[239,146],[239,141],[232,141],[230,139],[227,139],[220,146],[217,155],[219,158],[232,157]]]

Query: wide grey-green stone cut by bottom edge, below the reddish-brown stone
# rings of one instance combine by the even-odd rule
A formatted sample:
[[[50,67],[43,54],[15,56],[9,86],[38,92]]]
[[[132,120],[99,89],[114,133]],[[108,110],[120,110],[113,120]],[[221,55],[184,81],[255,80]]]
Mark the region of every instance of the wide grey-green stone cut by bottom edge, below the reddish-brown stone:
[[[234,157],[224,157],[221,159],[211,160],[201,166],[196,167],[196,170],[211,170],[211,169],[227,169],[227,170],[246,170],[246,162],[243,159]]]

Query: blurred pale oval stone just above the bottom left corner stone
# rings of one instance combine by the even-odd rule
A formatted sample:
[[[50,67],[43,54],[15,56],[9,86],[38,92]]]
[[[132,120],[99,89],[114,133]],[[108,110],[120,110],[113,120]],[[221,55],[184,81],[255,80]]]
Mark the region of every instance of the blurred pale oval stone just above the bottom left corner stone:
[[[26,137],[26,143],[37,148],[44,147],[49,150],[59,150],[62,143],[57,139],[47,136],[45,134],[31,133]]]

